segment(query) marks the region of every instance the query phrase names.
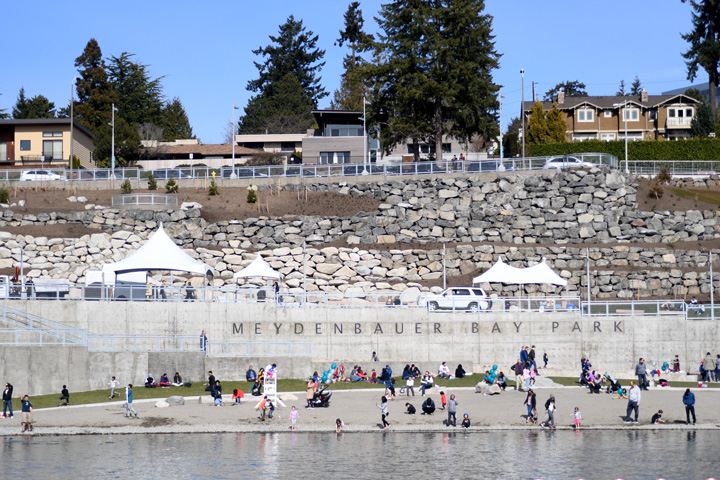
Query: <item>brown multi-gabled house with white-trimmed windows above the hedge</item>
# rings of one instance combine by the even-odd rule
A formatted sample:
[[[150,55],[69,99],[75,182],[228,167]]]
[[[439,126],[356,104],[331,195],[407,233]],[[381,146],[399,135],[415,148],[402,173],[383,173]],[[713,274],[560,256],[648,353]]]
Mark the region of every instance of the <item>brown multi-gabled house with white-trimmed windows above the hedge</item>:
[[[623,140],[626,129],[630,141],[689,138],[699,103],[684,94],[648,95],[645,90],[625,97],[565,97],[560,92],[555,102],[542,102],[544,111],[555,104],[562,112],[569,142]],[[523,105],[526,125],[533,105]]]

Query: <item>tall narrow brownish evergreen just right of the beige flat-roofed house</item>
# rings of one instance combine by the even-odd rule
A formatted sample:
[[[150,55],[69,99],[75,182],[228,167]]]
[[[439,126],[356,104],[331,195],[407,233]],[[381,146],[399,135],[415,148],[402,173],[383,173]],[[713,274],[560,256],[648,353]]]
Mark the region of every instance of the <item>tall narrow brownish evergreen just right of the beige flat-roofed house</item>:
[[[110,122],[111,104],[118,103],[108,81],[97,40],[90,39],[82,55],[75,59],[75,66],[80,69],[80,79],[76,83],[75,118],[95,132]]]

